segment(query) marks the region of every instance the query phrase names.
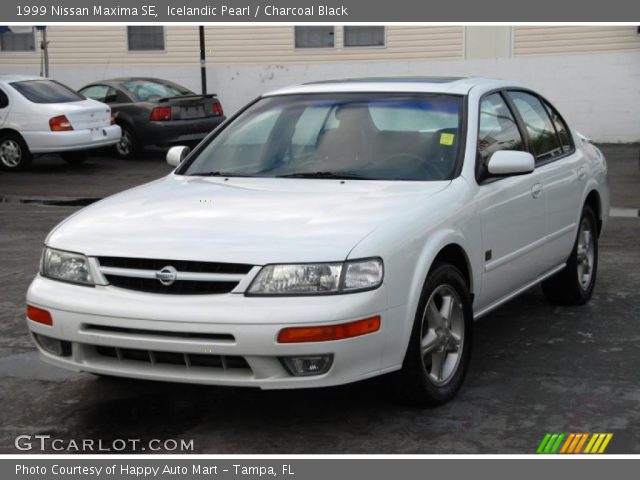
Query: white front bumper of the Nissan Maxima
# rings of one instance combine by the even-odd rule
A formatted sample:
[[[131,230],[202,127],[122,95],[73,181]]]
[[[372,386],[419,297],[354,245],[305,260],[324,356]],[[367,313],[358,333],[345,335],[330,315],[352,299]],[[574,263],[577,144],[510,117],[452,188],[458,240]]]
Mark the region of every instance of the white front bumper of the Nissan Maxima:
[[[401,355],[396,350],[401,348],[404,309],[385,309],[384,286],[369,292],[304,298],[176,296],[74,286],[38,276],[29,288],[27,302],[47,309],[53,317],[53,326],[27,320],[32,333],[71,344],[71,355],[66,357],[38,345],[41,358],[76,371],[278,389],[339,385],[400,367],[397,359]],[[285,327],[331,325],[373,315],[382,317],[375,333],[329,342],[276,342]],[[132,359],[131,351],[142,359]],[[182,355],[185,362],[162,361],[167,352]],[[320,354],[333,355],[331,368],[322,375],[292,376],[280,361],[284,356]],[[179,360],[180,355],[174,359]],[[212,365],[190,363],[191,358],[203,357],[214,360]]]

